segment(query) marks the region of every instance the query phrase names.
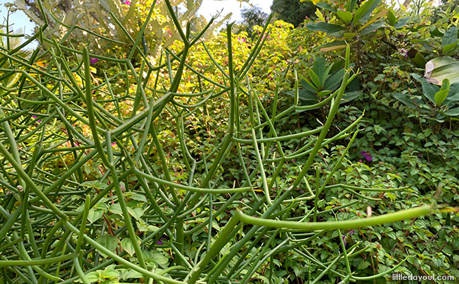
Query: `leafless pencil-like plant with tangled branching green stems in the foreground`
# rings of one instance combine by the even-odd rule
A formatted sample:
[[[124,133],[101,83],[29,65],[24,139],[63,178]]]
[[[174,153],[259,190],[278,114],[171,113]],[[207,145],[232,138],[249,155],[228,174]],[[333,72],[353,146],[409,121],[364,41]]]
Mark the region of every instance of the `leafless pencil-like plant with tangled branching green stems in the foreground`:
[[[251,283],[253,275],[264,263],[272,264],[273,258],[289,251],[302,255],[308,259],[311,268],[321,271],[315,279],[310,279],[310,283],[317,283],[325,274],[340,277],[341,283],[369,281],[397,269],[403,261],[381,274],[357,276],[351,271],[349,258],[367,248],[357,250],[359,244],[346,248],[340,230],[417,218],[430,214],[434,210],[432,206],[356,220],[317,220],[358,202],[321,210],[321,194],[331,188],[352,192],[360,200],[375,199],[367,196],[367,192],[407,190],[332,184],[334,173],[358,134],[353,128],[363,117],[362,114],[346,129],[327,137],[345,88],[356,76],[349,76],[349,48],[338,90],[316,105],[301,106],[296,70],[286,70],[285,75],[290,72],[295,77],[295,100],[290,107],[277,113],[280,90],[276,88],[269,113],[256,90],[251,88],[249,77],[251,66],[267,37],[260,36],[256,40],[238,73],[233,66],[231,24],[227,25],[227,66],[216,62],[204,44],[209,64],[220,71],[225,82],[219,83],[187,62],[190,49],[214,19],[192,36],[190,25],[183,29],[169,0],[164,1],[182,38],[183,49],[177,54],[164,49],[157,66],[152,66],[148,60],[148,49],[142,41],[155,1],[136,38],[132,38],[114,18],[114,23],[125,32],[127,43],[132,44],[127,57],[121,59],[90,53],[86,48],[75,49],[68,44],[66,39],[71,32],[82,27],[71,27],[64,38],[56,40],[46,36],[48,23],[45,23],[37,34],[16,48],[10,48],[9,43],[14,35],[9,31],[4,34],[8,48],[0,49],[0,283],[82,281],[86,284],[90,283],[88,273],[103,270],[111,264],[139,272],[144,283]],[[46,19],[48,14],[43,14]],[[268,23],[262,35],[267,33]],[[32,40],[39,40],[40,46],[32,55],[24,57],[21,49]],[[133,66],[134,55],[138,57],[136,61],[140,62],[140,67]],[[119,73],[109,76],[102,69],[103,79],[95,84],[90,73],[90,57],[117,65]],[[47,67],[35,64],[42,58],[47,58]],[[179,92],[185,70],[211,87],[194,93]],[[169,82],[160,81],[164,78],[160,73],[164,72],[169,74]],[[82,83],[78,77],[82,78]],[[120,79],[125,81],[125,94],[113,91],[113,82]],[[132,85],[136,86],[134,94],[129,92]],[[95,99],[97,92],[109,99]],[[219,99],[229,101],[225,137],[208,153],[191,151],[184,121],[189,116],[204,113],[206,107],[211,107]],[[330,105],[330,112],[322,127],[290,135],[277,134],[276,123],[281,118],[296,116],[297,110],[326,104]],[[107,109],[106,105],[114,107]],[[127,115],[122,111],[126,105],[132,106]],[[242,122],[245,114],[248,125]],[[179,142],[187,181],[177,181],[170,173],[170,159],[164,153],[166,145],[159,135],[161,129],[168,127],[161,124],[165,115],[175,120],[175,125],[169,125],[169,128]],[[84,135],[82,129],[90,129],[90,135]],[[287,153],[284,143],[293,139],[301,139],[303,145]],[[337,140],[347,141],[345,151],[322,182],[317,175],[317,179],[312,177],[317,183],[310,185],[310,170],[314,170],[312,166],[317,162],[317,154]],[[247,149],[254,153],[249,161],[256,164],[254,168],[246,166],[247,155],[243,151]],[[220,185],[225,173],[223,164],[230,157],[238,159],[245,177],[238,187]],[[304,162],[298,175],[290,180],[284,177],[283,169],[294,159]],[[50,165],[58,164],[65,170],[56,173],[50,168]],[[88,175],[85,168],[92,168],[100,175]],[[99,184],[104,186],[85,186],[92,181],[91,177],[97,177]],[[136,183],[132,183],[133,180]],[[299,188],[307,188],[306,193],[297,196]],[[157,229],[139,231],[127,203],[129,192],[145,196],[147,202],[141,205],[142,218]],[[221,194],[229,194],[229,197],[219,198]],[[118,220],[121,224],[114,226],[106,214],[97,222],[88,222],[90,212],[107,197],[121,208]],[[243,204],[243,198],[253,202]],[[305,202],[312,205],[301,219],[290,217],[293,208]],[[221,222],[221,231],[216,234],[212,231],[212,224],[228,210],[232,210],[232,216],[226,223]],[[244,226],[247,224],[249,227]],[[342,250],[332,261],[319,261],[304,249],[314,238],[333,230],[339,232],[338,242]],[[192,259],[186,254],[185,243],[196,233],[205,237]],[[110,250],[97,242],[99,237],[107,234],[128,238],[134,257],[119,246]],[[169,242],[158,245],[164,236]],[[274,244],[276,238],[282,242]],[[225,246],[227,250],[222,255]],[[171,253],[173,260],[168,266],[152,265],[145,259],[146,250],[159,249]],[[336,269],[336,264],[341,261],[344,261],[345,268]],[[269,278],[273,277],[271,272],[266,274]]]

